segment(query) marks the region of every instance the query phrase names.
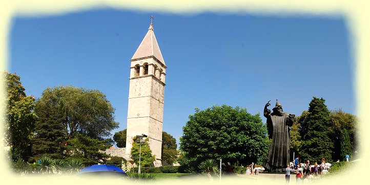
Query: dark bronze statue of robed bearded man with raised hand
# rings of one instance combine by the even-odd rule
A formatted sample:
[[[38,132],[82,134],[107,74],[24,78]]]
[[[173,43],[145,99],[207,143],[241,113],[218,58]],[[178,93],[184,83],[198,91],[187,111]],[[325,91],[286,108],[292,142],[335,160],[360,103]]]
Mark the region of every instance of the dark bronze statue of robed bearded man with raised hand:
[[[270,101],[265,104],[263,115],[267,119],[266,126],[272,143],[268,157],[263,161],[262,166],[266,171],[282,172],[289,164],[290,131],[295,115],[283,112],[282,106],[277,100],[272,113],[267,108],[270,105]]]

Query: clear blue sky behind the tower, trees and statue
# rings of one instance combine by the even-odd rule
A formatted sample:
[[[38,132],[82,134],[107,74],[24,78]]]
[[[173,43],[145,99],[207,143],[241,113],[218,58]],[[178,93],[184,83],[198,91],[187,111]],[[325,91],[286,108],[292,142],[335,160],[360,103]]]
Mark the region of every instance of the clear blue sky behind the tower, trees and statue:
[[[130,59],[148,31],[167,68],[163,131],[178,138],[194,107],[227,104],[262,113],[275,99],[300,115],[312,97],[329,109],[356,114],[354,61],[341,16],[180,15],[95,9],[15,16],[9,35],[8,71],[27,95],[47,87],[99,89],[127,124]],[[272,108],[272,107],[271,107]],[[262,119],[265,122],[265,119]]]

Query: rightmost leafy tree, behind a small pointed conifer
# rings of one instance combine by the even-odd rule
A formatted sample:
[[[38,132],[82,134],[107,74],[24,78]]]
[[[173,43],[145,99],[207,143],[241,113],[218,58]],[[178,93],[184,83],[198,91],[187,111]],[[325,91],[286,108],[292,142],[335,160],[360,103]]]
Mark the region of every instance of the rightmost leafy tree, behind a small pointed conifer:
[[[350,138],[350,145],[351,151],[354,151],[356,154],[358,151],[358,136],[357,130],[357,117],[353,114],[343,112],[341,109],[334,110],[330,112],[330,118],[333,122],[333,126],[330,128],[331,133],[333,135],[332,140],[334,141],[334,156],[333,159],[342,159],[343,156],[341,155],[341,136],[344,133],[344,130],[348,132],[348,136]],[[353,156],[352,153],[347,153]]]

